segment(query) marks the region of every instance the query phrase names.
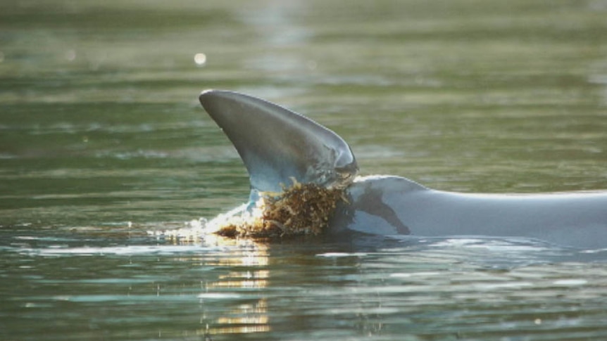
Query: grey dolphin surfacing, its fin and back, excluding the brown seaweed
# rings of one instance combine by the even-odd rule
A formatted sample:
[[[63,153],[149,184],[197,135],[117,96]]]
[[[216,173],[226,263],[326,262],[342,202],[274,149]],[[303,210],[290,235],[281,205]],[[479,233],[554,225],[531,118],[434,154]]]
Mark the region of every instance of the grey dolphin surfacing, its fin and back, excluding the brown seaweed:
[[[347,186],[348,202],[334,212],[331,233],[520,237],[607,247],[607,191],[453,193],[400,176],[354,179],[358,166],[348,144],[307,117],[232,91],[207,90],[199,99],[242,157],[251,180],[250,200],[258,192],[281,191],[281,184],[292,178]]]

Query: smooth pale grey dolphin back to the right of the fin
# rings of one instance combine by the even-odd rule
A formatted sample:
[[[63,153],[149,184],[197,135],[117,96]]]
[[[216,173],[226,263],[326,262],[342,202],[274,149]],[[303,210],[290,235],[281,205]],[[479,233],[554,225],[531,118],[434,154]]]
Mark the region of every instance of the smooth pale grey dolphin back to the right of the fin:
[[[607,245],[607,192],[480,194],[436,191],[399,176],[359,178],[332,232],[420,237],[533,238],[584,249]]]

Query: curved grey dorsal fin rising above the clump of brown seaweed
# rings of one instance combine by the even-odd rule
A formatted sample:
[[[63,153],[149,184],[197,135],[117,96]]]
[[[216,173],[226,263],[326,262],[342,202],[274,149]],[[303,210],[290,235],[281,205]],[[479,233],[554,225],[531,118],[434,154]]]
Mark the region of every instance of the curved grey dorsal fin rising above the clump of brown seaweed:
[[[358,172],[341,137],[296,112],[232,91],[206,90],[199,100],[234,144],[254,191],[280,192],[292,179],[339,186]]]

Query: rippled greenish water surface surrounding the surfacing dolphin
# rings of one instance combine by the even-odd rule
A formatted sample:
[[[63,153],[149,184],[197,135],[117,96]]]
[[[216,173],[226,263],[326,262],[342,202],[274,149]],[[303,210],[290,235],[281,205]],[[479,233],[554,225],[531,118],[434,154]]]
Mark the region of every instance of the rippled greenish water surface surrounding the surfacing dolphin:
[[[605,1],[2,8],[1,339],[607,338],[602,251],[146,233],[248,195],[197,101],[207,88],[312,117],[362,174],[468,192],[607,188]]]

